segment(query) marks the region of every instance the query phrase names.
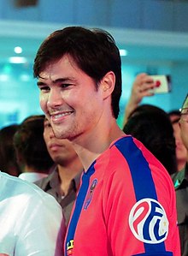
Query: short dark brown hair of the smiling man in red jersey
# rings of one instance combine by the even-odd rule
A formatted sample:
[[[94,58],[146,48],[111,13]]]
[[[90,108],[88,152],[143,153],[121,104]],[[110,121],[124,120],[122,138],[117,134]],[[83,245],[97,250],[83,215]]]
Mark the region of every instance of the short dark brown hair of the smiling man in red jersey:
[[[58,61],[64,55],[72,57],[78,67],[96,82],[96,86],[109,71],[115,73],[112,110],[117,118],[120,112],[121,62],[115,39],[100,29],[66,27],[57,30],[38,49],[33,66],[34,77],[39,77],[47,65]]]

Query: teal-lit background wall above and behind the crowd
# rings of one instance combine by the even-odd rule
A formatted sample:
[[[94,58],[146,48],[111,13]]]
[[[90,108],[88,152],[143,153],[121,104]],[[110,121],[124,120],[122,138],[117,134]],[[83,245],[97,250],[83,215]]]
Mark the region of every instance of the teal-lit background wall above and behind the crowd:
[[[139,58],[133,57],[131,61],[126,61],[126,57],[122,57],[123,90],[120,99],[120,117],[118,119],[120,126],[126,102],[131,92],[132,82],[140,72],[170,74],[172,78],[172,92],[144,98],[143,103],[155,104],[167,111],[179,109],[181,106],[185,94],[188,92],[188,1],[38,0],[36,6],[27,8],[18,8],[15,3],[16,0],[0,1],[0,44],[1,48],[4,48],[3,51],[0,51],[0,128],[9,125],[9,123],[21,122],[26,116],[41,113],[36,80],[32,78],[34,54],[33,52],[27,53],[30,57],[28,63],[7,63],[3,61],[3,52],[12,51],[7,42],[11,43],[14,39],[16,43],[15,36],[21,35],[19,43],[23,47],[24,45],[34,45],[33,51],[35,53],[39,44],[49,34],[46,33],[48,29],[53,30],[54,27],[62,27],[66,24],[68,26],[102,27],[113,31],[121,29],[119,38],[119,31],[116,33],[119,46],[124,29],[125,31],[126,29],[132,29],[132,33],[135,29],[133,51],[139,45],[139,50],[135,54],[136,56],[139,55]],[[10,22],[9,27],[11,27],[11,22],[13,25],[18,22],[19,28],[16,31],[12,29],[9,32],[3,21]],[[33,29],[35,24],[36,29]],[[41,28],[37,29],[39,24],[41,24]],[[27,33],[27,38],[24,38],[23,31]],[[144,34],[140,35],[139,31],[152,32],[151,37],[149,34],[145,39],[148,40],[148,45],[144,46],[148,50],[147,57],[145,51],[143,51],[142,56]],[[159,45],[159,49],[156,51],[152,46],[155,44],[155,36],[157,39],[160,32],[163,33],[161,39],[165,35],[168,36],[168,33],[177,35],[174,42],[171,42],[171,39],[168,41],[170,45],[175,45],[174,51],[170,51],[168,55],[167,48],[160,48]],[[3,33],[6,33],[8,41],[5,40]],[[44,35],[45,33],[46,35]],[[181,36],[180,39],[179,35]],[[184,42],[181,42],[184,35]],[[176,47],[176,45],[178,46]],[[150,57],[151,52],[152,57]]]

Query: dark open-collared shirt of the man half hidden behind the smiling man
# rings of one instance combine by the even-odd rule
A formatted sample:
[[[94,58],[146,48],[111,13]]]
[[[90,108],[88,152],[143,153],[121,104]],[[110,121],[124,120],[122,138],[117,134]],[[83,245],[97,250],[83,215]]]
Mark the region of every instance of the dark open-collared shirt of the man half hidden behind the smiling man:
[[[38,185],[39,188],[42,188],[45,192],[50,193],[53,197],[55,197],[57,202],[62,206],[62,213],[65,218],[66,226],[68,226],[73,203],[79,188],[80,175],[81,173],[75,176],[75,178],[72,180],[68,189],[68,194],[66,196],[63,196],[61,193],[61,182],[57,167],[55,168],[55,170],[52,171],[49,176],[39,180],[38,182],[35,182],[35,184]]]

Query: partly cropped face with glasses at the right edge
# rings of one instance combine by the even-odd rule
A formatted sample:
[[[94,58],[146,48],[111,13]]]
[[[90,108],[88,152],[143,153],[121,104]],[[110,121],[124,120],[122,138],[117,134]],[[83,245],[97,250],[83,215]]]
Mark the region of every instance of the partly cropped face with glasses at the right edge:
[[[181,137],[188,151],[188,97],[185,99],[185,103],[181,109],[179,124],[181,129]]]

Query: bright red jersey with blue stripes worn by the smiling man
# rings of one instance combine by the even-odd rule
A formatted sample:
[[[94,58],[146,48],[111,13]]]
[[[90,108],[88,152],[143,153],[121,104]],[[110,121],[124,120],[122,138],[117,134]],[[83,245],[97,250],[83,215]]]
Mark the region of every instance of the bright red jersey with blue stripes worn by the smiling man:
[[[138,140],[116,140],[82,176],[65,255],[180,255],[173,182]]]

